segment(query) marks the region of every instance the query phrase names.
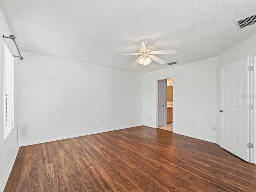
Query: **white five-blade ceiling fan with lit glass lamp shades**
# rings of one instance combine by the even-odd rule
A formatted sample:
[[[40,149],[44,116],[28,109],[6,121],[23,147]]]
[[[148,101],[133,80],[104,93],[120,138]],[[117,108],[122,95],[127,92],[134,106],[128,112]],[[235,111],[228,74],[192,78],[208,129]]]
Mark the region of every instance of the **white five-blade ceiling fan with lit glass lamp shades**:
[[[146,49],[146,45],[144,42],[136,42],[138,47],[140,48],[140,51],[138,53],[130,53],[130,54],[122,54],[122,55],[116,55],[116,56],[126,56],[126,55],[142,55],[140,56],[133,64],[132,66],[136,66],[138,63],[141,65],[148,65],[154,60],[155,62],[159,64],[165,64],[165,61],[158,58],[154,55],[176,55],[176,50],[160,50],[160,51],[150,51]]]

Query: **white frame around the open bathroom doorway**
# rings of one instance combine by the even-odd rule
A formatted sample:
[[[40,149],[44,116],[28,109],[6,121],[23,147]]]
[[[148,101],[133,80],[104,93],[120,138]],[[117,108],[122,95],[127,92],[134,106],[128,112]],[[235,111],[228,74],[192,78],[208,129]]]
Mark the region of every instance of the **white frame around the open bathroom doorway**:
[[[174,91],[174,85],[175,85],[175,80],[174,80],[174,75],[170,75],[170,76],[168,76],[168,77],[166,77],[166,78],[160,78],[160,79],[157,79],[156,80],[156,110],[155,110],[155,114],[156,114],[156,128],[158,128],[158,81],[160,81],[160,80],[166,80],[167,81],[167,79],[170,79],[170,78],[172,78],[172,81],[173,81],[173,93],[172,93],[172,132],[174,132],[174,128],[175,128],[175,126],[174,126],[174,123],[175,123],[175,118],[174,118],[174,116],[175,116],[175,108],[174,108],[174,99],[175,99],[175,91]],[[166,95],[167,95],[167,89],[166,89]],[[166,103],[167,104],[167,103]],[[166,106],[166,108],[167,108],[167,106]],[[167,110],[167,109],[166,109]],[[167,114],[167,111],[166,111],[166,114]],[[167,118],[167,116],[165,117],[165,119]]]

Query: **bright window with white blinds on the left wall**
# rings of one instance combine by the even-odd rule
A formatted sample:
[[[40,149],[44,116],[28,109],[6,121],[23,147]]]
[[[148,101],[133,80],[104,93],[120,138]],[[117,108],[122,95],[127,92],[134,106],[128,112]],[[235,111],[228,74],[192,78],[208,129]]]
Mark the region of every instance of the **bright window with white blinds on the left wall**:
[[[14,56],[4,43],[4,140],[14,130]]]

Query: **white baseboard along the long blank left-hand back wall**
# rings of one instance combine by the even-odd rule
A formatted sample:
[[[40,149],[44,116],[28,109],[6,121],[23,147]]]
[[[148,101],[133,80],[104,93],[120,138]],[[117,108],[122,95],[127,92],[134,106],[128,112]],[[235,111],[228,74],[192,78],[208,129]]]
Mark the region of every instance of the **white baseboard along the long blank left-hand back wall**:
[[[92,135],[92,134],[97,134],[97,133],[103,133],[103,132],[108,132],[108,131],[126,129],[126,128],[131,128],[131,127],[136,127],[136,126],[142,126],[142,124],[129,125],[129,126],[123,126],[123,127],[111,128],[111,129],[104,129],[104,130],[99,130],[99,131],[94,131],[94,132],[85,132],[85,133],[68,135],[68,136],[64,136],[64,137],[56,137],[56,138],[51,138],[51,139],[24,142],[24,143],[19,143],[19,145],[20,146],[28,146],[28,145],[46,143],[46,142],[57,141],[57,140],[62,140],[62,139],[69,139],[69,138],[74,138],[74,137],[80,137],[80,136]]]

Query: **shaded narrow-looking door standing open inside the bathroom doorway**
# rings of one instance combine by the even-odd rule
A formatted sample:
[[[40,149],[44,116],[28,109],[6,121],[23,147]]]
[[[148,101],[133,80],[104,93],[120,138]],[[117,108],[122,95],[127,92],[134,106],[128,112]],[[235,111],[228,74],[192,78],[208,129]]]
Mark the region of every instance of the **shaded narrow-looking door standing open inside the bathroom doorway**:
[[[166,89],[167,89],[167,81],[159,80],[158,81],[158,127],[164,126],[167,124],[166,122]]]

